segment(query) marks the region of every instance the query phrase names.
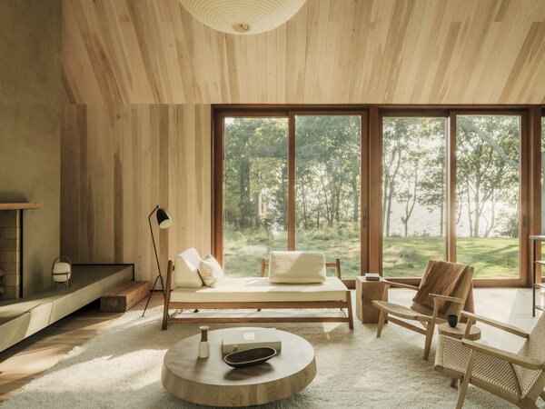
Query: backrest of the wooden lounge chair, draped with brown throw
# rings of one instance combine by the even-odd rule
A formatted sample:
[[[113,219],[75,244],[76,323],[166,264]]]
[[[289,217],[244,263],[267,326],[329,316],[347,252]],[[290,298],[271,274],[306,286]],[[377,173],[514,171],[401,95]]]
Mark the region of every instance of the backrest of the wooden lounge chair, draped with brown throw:
[[[471,265],[430,260],[411,308],[422,314],[433,313],[433,299],[428,294],[449,295],[467,300],[471,291],[474,268]],[[447,290],[447,291],[445,291]],[[445,294],[448,293],[448,294]],[[439,316],[460,314],[463,304],[441,304]]]

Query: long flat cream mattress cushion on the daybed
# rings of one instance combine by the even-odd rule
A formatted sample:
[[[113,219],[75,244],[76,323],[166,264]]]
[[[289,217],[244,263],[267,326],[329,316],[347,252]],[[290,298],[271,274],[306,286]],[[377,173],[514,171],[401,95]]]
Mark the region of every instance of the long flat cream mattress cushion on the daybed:
[[[272,284],[267,277],[225,277],[215,288],[175,288],[171,302],[346,301],[346,291],[337,277],[327,277],[323,284]]]

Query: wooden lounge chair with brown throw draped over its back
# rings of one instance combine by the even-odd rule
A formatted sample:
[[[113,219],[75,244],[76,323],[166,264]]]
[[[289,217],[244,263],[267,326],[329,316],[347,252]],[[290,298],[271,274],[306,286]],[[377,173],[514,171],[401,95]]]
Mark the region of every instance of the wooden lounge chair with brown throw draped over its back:
[[[452,295],[435,294],[430,291],[431,277],[437,274],[449,271],[450,269],[458,269],[461,271],[460,279],[457,282]],[[410,307],[388,303],[387,301],[373,301],[372,304],[381,311],[379,324],[377,327],[377,337],[381,336],[384,322],[399,324],[405,328],[415,331],[419,334],[426,335],[424,344],[424,359],[427,360],[430,354],[431,340],[435,331],[435,325],[446,322],[447,315],[456,314],[460,317],[461,310],[466,304],[468,294],[471,291],[471,279],[473,278],[473,267],[471,265],[456,264],[443,261],[430,260],[426,267],[426,272],[421,280],[420,287],[415,287],[409,284],[392,283],[387,281],[384,287],[382,300],[388,299],[388,289],[390,286],[408,288],[417,292]],[[428,283],[426,284],[426,281]],[[423,303],[415,302],[414,300],[424,300]],[[401,319],[400,319],[401,318]],[[409,323],[409,321],[417,321],[421,326]]]

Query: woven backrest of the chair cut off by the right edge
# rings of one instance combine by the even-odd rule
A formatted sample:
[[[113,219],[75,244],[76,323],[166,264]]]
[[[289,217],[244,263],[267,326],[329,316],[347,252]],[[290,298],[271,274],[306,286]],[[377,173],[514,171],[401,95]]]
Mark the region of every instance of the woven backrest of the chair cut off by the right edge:
[[[545,361],[545,314],[541,314],[538,323],[531,330],[530,337],[520,348],[519,354]],[[541,371],[534,371],[518,365],[513,365],[513,367],[519,378],[522,395],[528,394],[530,388],[538,380]]]

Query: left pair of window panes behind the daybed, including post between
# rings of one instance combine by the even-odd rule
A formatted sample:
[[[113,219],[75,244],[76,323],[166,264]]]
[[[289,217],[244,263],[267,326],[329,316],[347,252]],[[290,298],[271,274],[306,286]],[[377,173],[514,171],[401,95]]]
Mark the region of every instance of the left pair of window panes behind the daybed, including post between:
[[[362,114],[222,115],[221,126],[226,274],[259,274],[272,250],[322,251],[342,258],[343,278],[361,274]]]

